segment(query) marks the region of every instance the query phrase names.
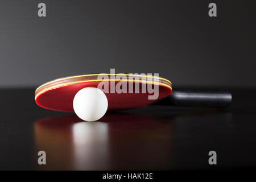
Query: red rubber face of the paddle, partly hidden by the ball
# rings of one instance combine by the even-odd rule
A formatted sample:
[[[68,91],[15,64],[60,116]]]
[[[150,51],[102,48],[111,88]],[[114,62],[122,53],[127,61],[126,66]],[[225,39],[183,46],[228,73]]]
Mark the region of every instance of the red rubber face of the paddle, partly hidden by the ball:
[[[100,81],[82,82],[71,85],[65,85],[58,88],[46,90],[40,93],[36,98],[36,104],[46,109],[73,112],[73,98],[76,93],[85,87],[97,85]],[[115,82],[117,83],[117,82]],[[142,84],[139,83],[140,88]],[[105,93],[108,98],[108,110],[125,110],[137,107],[143,107],[152,104],[172,93],[171,88],[159,85],[159,97],[157,100],[148,100],[149,93]]]

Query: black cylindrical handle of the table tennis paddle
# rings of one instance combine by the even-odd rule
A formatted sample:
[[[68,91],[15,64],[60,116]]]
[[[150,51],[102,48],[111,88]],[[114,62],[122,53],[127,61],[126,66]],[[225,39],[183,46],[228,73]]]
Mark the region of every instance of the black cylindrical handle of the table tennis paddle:
[[[229,92],[209,92],[193,90],[173,90],[172,94],[162,101],[160,105],[175,105],[183,107],[213,107],[226,108],[232,102]]]

